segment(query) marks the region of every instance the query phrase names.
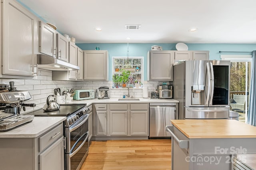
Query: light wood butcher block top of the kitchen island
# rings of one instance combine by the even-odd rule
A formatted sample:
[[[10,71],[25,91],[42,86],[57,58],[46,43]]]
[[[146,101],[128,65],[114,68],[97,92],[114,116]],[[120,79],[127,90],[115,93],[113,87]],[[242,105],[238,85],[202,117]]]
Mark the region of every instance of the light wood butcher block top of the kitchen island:
[[[171,120],[189,139],[197,138],[256,138],[256,127],[229,119]]]

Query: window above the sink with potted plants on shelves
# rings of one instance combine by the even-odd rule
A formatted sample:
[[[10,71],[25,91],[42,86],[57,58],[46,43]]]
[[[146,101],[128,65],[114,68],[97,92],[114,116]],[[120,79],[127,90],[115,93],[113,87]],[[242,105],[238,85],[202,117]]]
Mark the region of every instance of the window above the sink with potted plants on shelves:
[[[114,88],[140,88],[143,82],[143,57],[112,57]]]

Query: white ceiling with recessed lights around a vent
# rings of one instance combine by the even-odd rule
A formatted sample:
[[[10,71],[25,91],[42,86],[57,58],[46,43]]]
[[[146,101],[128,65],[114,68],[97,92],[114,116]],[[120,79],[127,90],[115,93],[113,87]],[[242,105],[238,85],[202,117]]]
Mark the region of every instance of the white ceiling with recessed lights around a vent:
[[[20,2],[76,43],[256,43],[256,0]],[[125,24],[141,29],[126,30]]]

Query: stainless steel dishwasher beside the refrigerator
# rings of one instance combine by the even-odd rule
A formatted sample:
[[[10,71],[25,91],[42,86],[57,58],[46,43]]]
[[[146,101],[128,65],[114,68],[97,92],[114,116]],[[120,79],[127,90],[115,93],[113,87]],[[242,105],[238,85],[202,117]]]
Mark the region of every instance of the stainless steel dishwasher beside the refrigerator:
[[[170,138],[165,126],[172,125],[170,120],[177,119],[178,104],[176,103],[150,103],[149,104],[149,138]]]

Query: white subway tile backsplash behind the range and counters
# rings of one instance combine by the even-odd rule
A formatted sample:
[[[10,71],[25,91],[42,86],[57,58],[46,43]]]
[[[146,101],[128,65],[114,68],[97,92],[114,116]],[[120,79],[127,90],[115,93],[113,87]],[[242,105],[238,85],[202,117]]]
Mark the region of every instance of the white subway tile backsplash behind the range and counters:
[[[101,86],[109,87],[108,95],[110,98],[122,98],[123,93],[127,94],[127,88],[112,88],[112,81],[56,81],[52,80],[52,71],[50,70],[38,70],[38,76],[34,79],[8,79],[2,78],[0,79],[0,83],[9,84],[9,82],[13,81],[14,86],[17,90],[28,90],[31,95],[31,99],[26,103],[34,103],[36,107],[26,107],[26,112],[32,111],[33,109],[39,109],[46,104],[46,99],[49,95],[54,94],[55,88],[75,88],[75,89],[94,89],[96,91],[97,88]],[[157,85],[162,82],[158,81],[144,81],[143,86],[148,87],[148,94],[151,91],[155,91],[157,89]],[[142,88],[132,89],[134,90],[135,98],[142,98]],[[132,93],[132,90],[130,93]],[[97,98],[98,96],[95,95]],[[21,111],[23,113],[24,111]]]

